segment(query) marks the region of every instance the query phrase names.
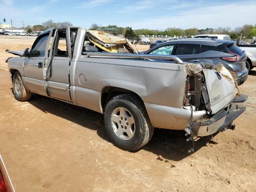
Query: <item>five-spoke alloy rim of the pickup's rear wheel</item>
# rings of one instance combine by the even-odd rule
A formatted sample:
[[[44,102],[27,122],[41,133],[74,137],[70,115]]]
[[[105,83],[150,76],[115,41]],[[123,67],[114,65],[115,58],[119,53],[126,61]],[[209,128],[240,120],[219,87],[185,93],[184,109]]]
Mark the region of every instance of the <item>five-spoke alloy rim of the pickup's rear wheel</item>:
[[[111,115],[111,126],[118,138],[130,140],[135,134],[135,121],[124,107],[115,108]]]

